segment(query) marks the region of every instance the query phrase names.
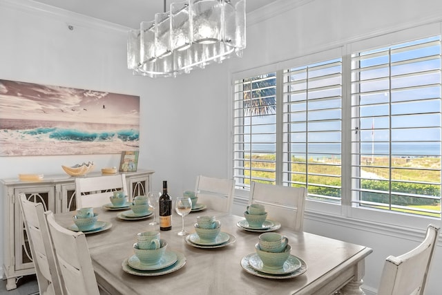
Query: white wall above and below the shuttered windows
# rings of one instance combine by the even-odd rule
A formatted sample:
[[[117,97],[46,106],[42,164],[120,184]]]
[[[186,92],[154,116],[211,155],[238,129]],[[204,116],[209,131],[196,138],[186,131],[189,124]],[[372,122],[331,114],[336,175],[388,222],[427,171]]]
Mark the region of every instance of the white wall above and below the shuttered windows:
[[[247,49],[242,59],[229,64],[233,75],[238,72],[258,74],[253,68],[280,69],[271,65],[442,19],[442,2],[438,0],[300,0],[280,1],[278,4],[283,12],[274,17],[273,8],[249,17],[253,24],[247,27]],[[266,17],[267,20],[259,21]],[[367,294],[376,292],[387,256],[403,254],[423,239],[423,229],[420,232],[414,229],[394,231],[394,227],[383,227],[376,222],[326,216],[309,209],[307,204],[305,231],[366,245],[374,250],[365,265]],[[440,220],[436,222],[441,223]],[[441,244],[436,250],[426,294],[441,294]]]

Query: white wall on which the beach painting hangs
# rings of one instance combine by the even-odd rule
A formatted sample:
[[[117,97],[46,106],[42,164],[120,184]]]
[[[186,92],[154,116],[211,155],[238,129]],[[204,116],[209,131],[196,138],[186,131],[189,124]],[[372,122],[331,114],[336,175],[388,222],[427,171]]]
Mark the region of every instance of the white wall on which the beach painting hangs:
[[[0,0],[0,79],[140,95],[139,167],[155,171],[153,189],[168,180],[177,196],[194,188],[198,174],[227,178],[226,66],[175,79],[133,76],[126,68],[127,30],[32,1]],[[99,171],[118,166],[119,157],[0,157],[0,178],[64,173],[62,164],[85,161]],[[0,253],[2,237],[0,218]]]

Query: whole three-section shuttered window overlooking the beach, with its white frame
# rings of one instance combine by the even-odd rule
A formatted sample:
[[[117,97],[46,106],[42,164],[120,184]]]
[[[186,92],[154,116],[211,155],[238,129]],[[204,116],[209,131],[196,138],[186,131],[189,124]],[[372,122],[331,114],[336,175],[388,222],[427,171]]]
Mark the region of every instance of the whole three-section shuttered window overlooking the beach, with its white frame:
[[[307,187],[320,211],[396,224],[401,216],[441,218],[436,29],[405,42],[428,30],[365,39],[236,79],[237,188],[251,181]]]

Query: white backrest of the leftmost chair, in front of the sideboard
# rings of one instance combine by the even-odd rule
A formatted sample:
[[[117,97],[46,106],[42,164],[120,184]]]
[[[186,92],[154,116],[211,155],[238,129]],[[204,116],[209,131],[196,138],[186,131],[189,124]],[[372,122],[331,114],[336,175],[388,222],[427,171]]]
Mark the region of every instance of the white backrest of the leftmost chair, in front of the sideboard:
[[[62,294],[62,283],[55,263],[43,204],[28,201],[24,193],[19,193],[19,200],[37,274],[39,293]]]

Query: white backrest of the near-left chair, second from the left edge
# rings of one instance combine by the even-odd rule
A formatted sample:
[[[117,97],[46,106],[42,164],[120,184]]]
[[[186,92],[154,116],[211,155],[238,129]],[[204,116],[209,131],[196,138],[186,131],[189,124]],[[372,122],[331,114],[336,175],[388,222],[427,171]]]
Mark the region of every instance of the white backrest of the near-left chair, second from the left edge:
[[[45,215],[67,294],[98,295],[98,284],[86,236],[81,231],[61,227],[51,211],[46,211]]]

